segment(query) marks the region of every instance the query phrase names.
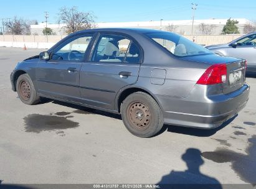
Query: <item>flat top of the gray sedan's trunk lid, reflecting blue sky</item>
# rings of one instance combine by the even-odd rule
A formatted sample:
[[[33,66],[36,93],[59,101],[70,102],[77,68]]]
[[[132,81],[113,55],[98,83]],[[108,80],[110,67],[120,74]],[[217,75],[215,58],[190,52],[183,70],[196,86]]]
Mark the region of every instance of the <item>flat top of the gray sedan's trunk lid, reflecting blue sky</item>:
[[[183,57],[181,59],[191,61],[191,62],[203,62],[203,63],[211,63],[211,64],[228,63],[228,62],[235,62],[240,60],[239,58],[222,57],[216,54],[196,55],[196,56]]]

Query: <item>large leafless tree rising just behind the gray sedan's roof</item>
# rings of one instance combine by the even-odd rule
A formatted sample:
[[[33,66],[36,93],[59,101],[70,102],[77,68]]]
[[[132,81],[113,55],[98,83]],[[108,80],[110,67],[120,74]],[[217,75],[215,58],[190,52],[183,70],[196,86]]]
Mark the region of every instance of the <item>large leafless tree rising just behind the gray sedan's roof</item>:
[[[92,12],[79,12],[77,7],[60,8],[57,21],[59,24],[66,24],[64,26],[67,34],[83,29],[92,29],[95,27],[95,16]]]

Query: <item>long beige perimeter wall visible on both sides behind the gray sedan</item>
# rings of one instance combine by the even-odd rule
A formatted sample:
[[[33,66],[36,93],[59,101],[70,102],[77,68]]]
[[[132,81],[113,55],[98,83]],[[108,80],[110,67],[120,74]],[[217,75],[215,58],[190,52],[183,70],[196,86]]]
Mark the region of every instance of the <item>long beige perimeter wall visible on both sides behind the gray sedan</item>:
[[[214,45],[224,44],[237,39],[242,35],[184,35],[189,40],[195,37],[197,44]],[[50,48],[65,35],[0,35],[0,47]]]

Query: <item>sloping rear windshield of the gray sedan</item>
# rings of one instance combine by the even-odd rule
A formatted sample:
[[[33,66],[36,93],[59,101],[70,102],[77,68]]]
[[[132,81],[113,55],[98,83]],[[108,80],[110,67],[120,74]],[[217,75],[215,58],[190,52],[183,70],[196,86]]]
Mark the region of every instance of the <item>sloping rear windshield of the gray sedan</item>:
[[[171,32],[151,32],[146,33],[146,35],[178,57],[212,54],[210,50],[178,34]]]

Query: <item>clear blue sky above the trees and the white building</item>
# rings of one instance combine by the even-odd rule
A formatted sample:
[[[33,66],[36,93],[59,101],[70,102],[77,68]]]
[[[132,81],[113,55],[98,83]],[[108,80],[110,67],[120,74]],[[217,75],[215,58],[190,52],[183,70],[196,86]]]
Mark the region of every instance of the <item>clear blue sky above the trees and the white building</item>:
[[[9,0],[1,1],[0,19],[17,16],[42,22],[44,11],[48,11],[49,21],[54,24],[60,7],[77,6],[80,11],[92,11],[97,16],[96,22],[185,20],[191,19],[191,2],[198,4],[195,19],[256,20],[256,0]]]

